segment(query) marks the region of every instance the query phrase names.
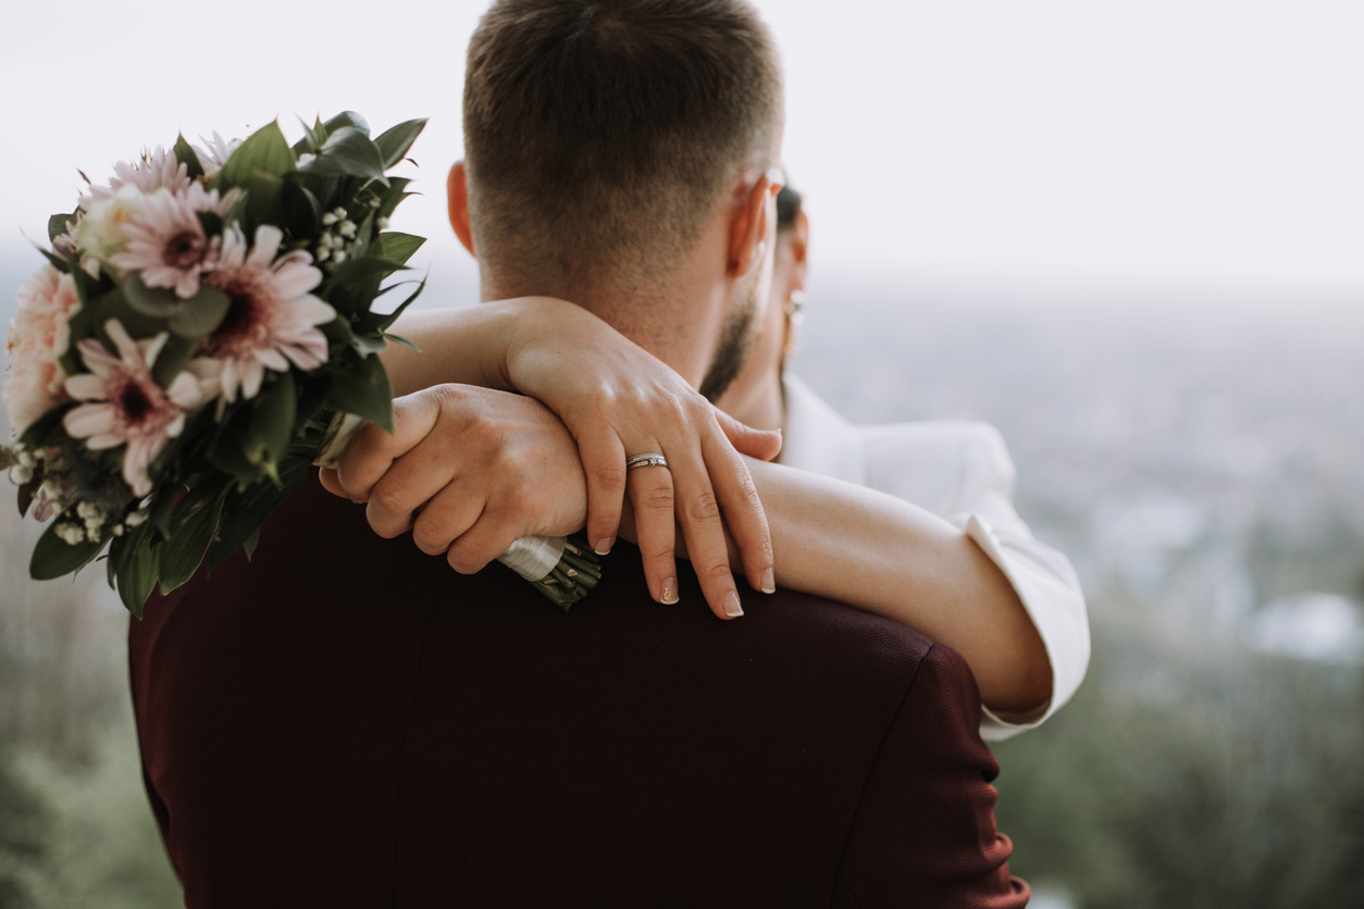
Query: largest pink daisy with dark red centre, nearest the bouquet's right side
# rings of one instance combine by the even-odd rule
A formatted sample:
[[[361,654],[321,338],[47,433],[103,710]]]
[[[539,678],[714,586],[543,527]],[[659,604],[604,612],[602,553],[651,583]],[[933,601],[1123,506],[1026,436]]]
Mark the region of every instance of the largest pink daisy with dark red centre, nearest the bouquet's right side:
[[[205,277],[232,300],[222,324],[199,348],[199,356],[221,364],[220,407],[236,401],[239,388],[243,398],[254,398],[266,369],[284,372],[292,363],[307,371],[327,361],[327,338],[316,326],[337,313],[310,293],[322,283],[322,273],[301,249],[276,259],[281,240],[278,228],[262,225],[248,255],[246,237],[233,225],[224,234],[218,267]]]

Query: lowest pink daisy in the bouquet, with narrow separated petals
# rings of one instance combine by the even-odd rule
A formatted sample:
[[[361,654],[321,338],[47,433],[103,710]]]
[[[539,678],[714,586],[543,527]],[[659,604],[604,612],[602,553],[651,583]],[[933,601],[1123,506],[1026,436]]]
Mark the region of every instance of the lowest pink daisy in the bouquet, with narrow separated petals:
[[[165,346],[166,333],[146,341],[134,341],[117,319],[104,324],[119,356],[98,341],[76,345],[90,372],[67,379],[67,394],[86,401],[61,420],[67,435],[85,439],[91,451],[127,444],[123,455],[123,480],[132,493],[151,492],[147,467],[166,447],[166,442],[184,429],[186,410],[202,403],[199,382],[181,372],[162,388],[151,378],[151,367]]]

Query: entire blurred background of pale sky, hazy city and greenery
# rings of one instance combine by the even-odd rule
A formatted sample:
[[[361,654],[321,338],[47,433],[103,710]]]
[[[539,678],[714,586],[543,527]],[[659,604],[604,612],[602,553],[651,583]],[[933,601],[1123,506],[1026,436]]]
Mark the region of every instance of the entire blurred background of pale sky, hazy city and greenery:
[[[428,305],[472,303],[443,176],[487,1],[11,4],[0,319],[78,169],[348,108],[432,117],[394,226],[431,237]],[[795,369],[854,421],[998,425],[1088,596],[1087,681],[996,748],[1035,905],[1364,906],[1364,7],[754,1],[813,221]],[[98,572],[27,581],[7,502],[0,909],[179,905],[127,616]]]

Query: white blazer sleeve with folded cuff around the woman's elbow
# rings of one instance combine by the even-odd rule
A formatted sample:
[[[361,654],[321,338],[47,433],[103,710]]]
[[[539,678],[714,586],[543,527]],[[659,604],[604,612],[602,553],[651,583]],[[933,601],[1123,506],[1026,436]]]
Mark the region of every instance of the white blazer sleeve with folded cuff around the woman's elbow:
[[[1079,578],[1071,561],[1039,542],[1015,511],[1013,461],[994,427],[975,421],[907,424],[906,433],[899,439],[895,429],[868,428],[869,485],[900,495],[900,491],[887,488],[899,485],[888,482],[888,474],[903,477],[904,472],[926,466],[923,462],[929,459],[941,459],[938,469],[947,473],[951,463],[955,467],[955,489],[943,489],[937,502],[930,504],[915,502],[911,496],[900,497],[937,511],[981,546],[1013,585],[1046,646],[1052,664],[1052,699],[1030,714],[985,710],[982,737],[993,741],[1008,739],[1056,713],[1084,679],[1090,664],[1090,626]],[[929,451],[938,457],[925,458]],[[902,482],[906,481],[913,482],[910,477]]]

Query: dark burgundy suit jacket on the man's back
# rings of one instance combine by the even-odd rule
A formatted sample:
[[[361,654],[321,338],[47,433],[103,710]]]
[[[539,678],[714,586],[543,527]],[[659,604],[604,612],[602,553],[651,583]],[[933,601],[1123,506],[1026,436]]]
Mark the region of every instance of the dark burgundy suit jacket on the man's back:
[[[254,560],[132,621],[143,770],[190,906],[1022,906],[948,647],[619,544],[563,613],[316,478]],[[685,563],[683,563],[685,564]]]

